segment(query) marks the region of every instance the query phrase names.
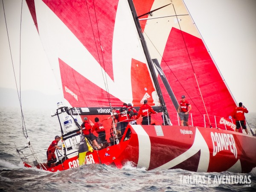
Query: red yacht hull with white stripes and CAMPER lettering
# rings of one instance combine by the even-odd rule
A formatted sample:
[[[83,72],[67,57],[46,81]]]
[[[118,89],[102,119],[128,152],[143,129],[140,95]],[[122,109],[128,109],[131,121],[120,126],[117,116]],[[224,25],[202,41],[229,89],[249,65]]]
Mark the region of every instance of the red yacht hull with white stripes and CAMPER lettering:
[[[86,164],[122,168],[184,169],[193,172],[250,172],[256,167],[256,137],[215,128],[129,125],[131,138],[100,151],[87,152]],[[26,165],[25,165],[26,166]],[[63,171],[79,166],[77,157],[46,169]]]

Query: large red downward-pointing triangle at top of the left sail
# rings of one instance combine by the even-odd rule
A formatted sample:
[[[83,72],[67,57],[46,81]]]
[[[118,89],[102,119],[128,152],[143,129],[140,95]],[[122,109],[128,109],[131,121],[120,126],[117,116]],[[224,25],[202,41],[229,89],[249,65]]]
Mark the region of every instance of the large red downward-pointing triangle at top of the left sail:
[[[44,0],[44,3],[76,35],[113,79],[112,39],[118,0]]]

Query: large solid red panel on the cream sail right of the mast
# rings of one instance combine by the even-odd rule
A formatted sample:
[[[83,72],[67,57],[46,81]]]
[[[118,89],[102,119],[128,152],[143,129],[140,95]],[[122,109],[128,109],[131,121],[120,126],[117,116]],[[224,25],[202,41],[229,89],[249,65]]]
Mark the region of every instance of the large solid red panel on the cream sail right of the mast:
[[[177,100],[186,95],[186,100],[192,105],[192,113],[208,112],[209,115],[227,118],[236,106],[201,39],[172,28],[161,66]],[[166,93],[165,98],[168,97]]]

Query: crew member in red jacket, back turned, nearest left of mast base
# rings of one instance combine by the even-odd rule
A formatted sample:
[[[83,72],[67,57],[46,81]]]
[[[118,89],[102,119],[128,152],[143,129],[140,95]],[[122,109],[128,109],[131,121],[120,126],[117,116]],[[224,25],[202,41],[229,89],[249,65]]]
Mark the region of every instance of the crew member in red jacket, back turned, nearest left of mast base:
[[[136,119],[139,119],[140,116],[142,116],[142,122],[141,125],[150,125],[151,124],[151,114],[156,114],[157,112],[152,109],[150,105],[148,105],[148,100],[144,100],[144,105],[140,107],[140,110],[138,111],[138,116]]]

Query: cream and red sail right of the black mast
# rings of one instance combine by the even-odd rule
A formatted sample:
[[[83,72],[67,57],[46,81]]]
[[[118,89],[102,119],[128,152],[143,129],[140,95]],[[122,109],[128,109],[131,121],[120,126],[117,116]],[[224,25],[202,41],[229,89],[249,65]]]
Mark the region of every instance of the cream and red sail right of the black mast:
[[[205,119],[209,126],[219,122],[221,117],[228,118],[236,103],[183,1],[171,2],[154,0],[142,6],[141,1],[135,0],[134,4],[151,58],[160,63],[177,101],[181,95],[186,95],[193,108],[193,120],[203,122],[200,119],[208,113],[209,118]],[[152,12],[160,7],[163,8]],[[147,12],[148,15],[140,17]],[[175,102],[164,91],[165,85],[159,82],[172,123],[176,119],[177,125]],[[218,116],[214,116],[216,114]]]

